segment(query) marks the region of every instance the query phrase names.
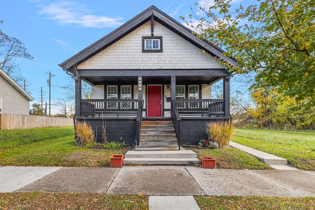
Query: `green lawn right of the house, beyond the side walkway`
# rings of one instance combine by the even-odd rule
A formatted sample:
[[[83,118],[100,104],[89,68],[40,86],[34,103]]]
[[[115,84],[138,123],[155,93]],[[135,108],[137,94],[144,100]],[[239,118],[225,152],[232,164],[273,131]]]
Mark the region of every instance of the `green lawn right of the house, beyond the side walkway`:
[[[285,158],[291,167],[315,171],[315,131],[235,128],[232,141]]]

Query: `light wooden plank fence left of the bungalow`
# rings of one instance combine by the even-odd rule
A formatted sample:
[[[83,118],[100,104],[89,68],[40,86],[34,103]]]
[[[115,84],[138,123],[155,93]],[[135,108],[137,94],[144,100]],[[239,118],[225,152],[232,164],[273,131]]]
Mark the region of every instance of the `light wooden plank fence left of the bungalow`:
[[[73,126],[73,119],[35,115],[0,114],[0,130],[64,126]]]

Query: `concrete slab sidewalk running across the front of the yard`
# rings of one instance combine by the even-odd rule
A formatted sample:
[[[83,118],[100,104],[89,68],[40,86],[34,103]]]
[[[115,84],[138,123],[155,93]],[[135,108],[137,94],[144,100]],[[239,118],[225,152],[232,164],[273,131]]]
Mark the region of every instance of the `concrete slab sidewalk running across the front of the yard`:
[[[1,192],[315,197],[315,173],[299,170],[221,170],[193,166],[42,168],[46,167],[1,167]],[[39,175],[39,172],[46,173]]]

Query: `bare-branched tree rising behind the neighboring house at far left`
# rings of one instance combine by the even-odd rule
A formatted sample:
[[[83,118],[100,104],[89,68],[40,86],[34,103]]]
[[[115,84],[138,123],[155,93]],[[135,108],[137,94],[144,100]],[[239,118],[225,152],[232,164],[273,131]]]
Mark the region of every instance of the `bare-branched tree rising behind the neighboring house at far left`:
[[[21,79],[21,75],[14,75],[19,71],[19,64],[14,62],[17,58],[33,60],[19,39],[8,36],[0,30],[0,68],[13,79],[15,77]]]

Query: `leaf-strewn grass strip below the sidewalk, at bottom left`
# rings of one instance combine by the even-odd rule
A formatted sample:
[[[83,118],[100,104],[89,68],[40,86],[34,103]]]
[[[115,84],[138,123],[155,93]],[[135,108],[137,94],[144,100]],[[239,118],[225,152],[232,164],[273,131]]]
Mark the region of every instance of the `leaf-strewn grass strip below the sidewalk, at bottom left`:
[[[0,193],[0,209],[148,210],[148,196],[101,193]]]

